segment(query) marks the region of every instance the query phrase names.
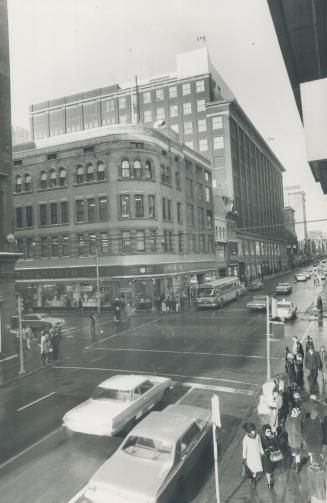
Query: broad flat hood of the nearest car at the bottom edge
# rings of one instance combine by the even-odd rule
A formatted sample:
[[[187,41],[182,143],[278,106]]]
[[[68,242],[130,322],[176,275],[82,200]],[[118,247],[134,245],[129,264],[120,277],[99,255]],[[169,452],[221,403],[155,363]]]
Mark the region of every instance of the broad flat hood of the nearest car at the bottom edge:
[[[170,467],[170,461],[142,460],[117,451],[92,477],[85,496],[99,502],[116,498],[133,502],[140,497],[154,497]]]

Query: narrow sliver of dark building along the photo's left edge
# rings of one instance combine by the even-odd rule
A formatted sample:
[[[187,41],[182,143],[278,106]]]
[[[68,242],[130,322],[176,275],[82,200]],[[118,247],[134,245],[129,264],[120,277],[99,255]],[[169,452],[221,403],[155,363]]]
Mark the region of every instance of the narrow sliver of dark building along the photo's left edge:
[[[8,325],[15,314],[11,113],[7,2],[0,0],[0,353],[12,351]]]

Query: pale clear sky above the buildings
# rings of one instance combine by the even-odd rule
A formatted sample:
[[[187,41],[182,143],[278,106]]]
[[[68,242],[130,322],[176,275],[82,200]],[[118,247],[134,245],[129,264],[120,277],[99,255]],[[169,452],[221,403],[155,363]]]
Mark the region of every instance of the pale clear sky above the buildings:
[[[284,165],[284,186],[306,192],[308,221],[327,217],[266,0],[7,2],[14,125],[28,127],[32,103],[174,72],[176,54],[205,44]],[[308,229],[327,232],[327,222]]]

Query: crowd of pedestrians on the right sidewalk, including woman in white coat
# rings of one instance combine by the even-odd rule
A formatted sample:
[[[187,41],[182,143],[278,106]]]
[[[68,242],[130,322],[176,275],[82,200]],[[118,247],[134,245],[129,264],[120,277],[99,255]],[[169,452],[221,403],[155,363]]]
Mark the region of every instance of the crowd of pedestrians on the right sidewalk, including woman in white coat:
[[[284,468],[291,461],[296,472],[306,459],[321,466],[322,446],[327,445],[327,400],[321,403],[317,398],[321,369],[312,338],[308,336],[304,351],[293,337],[291,349],[286,348],[286,376],[263,385],[258,404],[261,432],[254,423],[244,425],[242,471],[252,487],[258,474],[264,473],[271,490],[274,467],[280,461]]]

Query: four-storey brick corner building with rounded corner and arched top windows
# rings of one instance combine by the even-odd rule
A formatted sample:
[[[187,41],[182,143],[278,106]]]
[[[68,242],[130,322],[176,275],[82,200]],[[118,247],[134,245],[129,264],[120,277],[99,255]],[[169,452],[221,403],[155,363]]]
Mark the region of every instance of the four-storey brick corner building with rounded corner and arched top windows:
[[[177,135],[112,125],[14,148],[17,288],[30,307],[138,308],[216,276],[210,162]]]

